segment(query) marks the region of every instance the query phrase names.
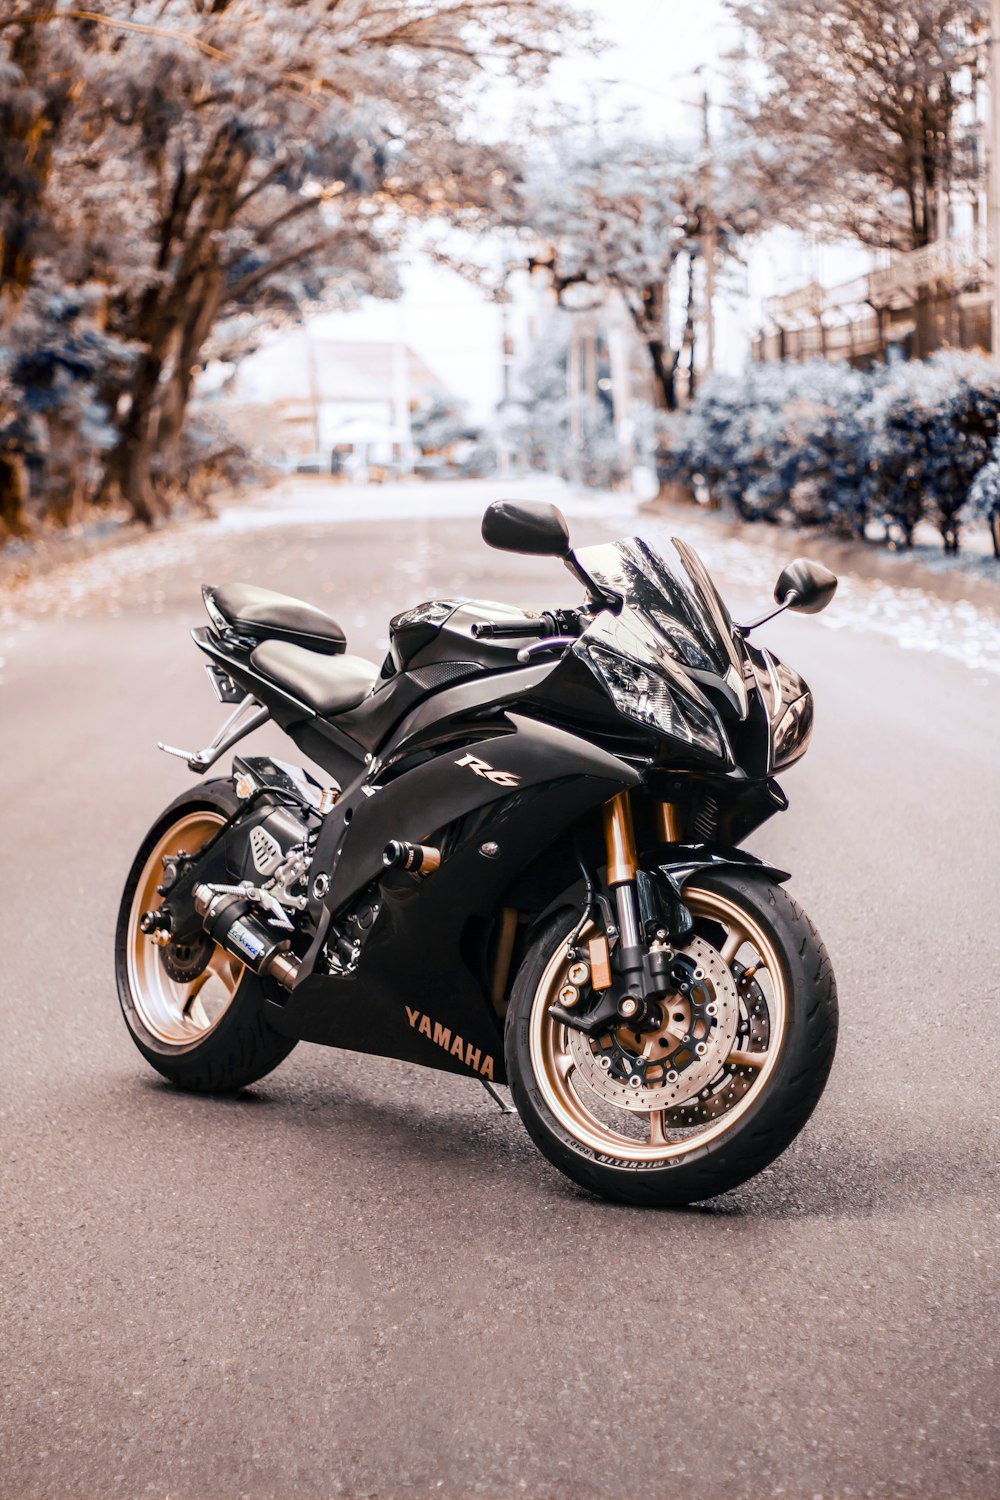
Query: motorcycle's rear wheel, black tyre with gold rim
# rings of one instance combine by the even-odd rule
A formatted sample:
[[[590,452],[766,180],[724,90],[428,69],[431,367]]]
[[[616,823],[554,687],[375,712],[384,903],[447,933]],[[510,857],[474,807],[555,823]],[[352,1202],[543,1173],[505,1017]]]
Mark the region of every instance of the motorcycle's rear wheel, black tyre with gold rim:
[[[115,980],[129,1035],[157,1072],[196,1094],[244,1089],[295,1046],[268,1024],[261,980],[207,934],[204,948],[175,952],[139,930],[142,912],[160,902],[163,855],[196,854],[238,806],[222,778],[175,798],[139,846],[115,928]]]

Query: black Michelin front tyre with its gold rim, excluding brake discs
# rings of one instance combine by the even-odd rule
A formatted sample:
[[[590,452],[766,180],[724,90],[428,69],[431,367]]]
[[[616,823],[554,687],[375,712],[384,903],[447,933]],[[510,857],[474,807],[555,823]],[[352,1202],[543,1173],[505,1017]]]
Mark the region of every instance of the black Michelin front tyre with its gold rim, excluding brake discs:
[[[670,1107],[655,1112],[660,1124],[654,1125],[654,1112],[643,1116],[628,1090],[622,1090],[630,1098],[628,1110],[609,1108],[606,1098],[613,1084],[604,1089],[606,1098],[598,1098],[588,1083],[586,1053],[579,1041],[574,1050],[568,1029],[546,1018],[553,990],[565,978],[564,945],[573,927],[565,915],[553,920],[528,951],[507,1014],[507,1074],[528,1134],[559,1172],[618,1203],[679,1206],[747,1182],[802,1130],[834,1062],[838,1020],[834,970],[798,902],[771,878],[742,870],[700,874],[685,888],[685,897],[696,915],[700,906],[709,934],[723,933],[724,914],[735,914],[730,930],[742,930],[747,938],[726,960],[730,975],[741,968],[738,963],[733,969],[736,952],[745,956],[745,969],[751,968],[751,950],[765,954],[768,968],[759,966],[765,969],[763,987],[759,982],[754,987],[751,974],[739,993],[744,1017],[748,993],[757,998],[754,1014],[762,1010],[769,1016],[763,1023],[766,1030],[759,1032],[763,1044],[748,1040],[735,1044],[733,1056],[739,1056],[739,1048],[757,1048],[754,1068],[733,1066],[732,1074],[721,1070],[714,1083],[717,1092],[706,1089],[694,1096],[693,1107],[700,1113],[691,1119],[682,1108]],[[717,940],[709,936],[709,942]],[[741,1024],[747,1024],[745,1018]],[[601,1062],[600,1047],[594,1053]],[[601,1074],[591,1077],[603,1089]],[[678,1074],[672,1077],[676,1080]],[[720,1078],[727,1082],[720,1084]]]

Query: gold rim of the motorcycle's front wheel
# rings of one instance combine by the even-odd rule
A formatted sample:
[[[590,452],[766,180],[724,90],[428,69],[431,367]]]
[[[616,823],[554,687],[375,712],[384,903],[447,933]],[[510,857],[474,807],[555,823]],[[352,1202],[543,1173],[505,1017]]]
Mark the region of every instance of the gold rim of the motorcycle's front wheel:
[[[744,963],[747,958],[756,966],[754,984],[757,993],[765,996],[768,1010],[768,1046],[766,1050],[754,1050],[745,1042],[733,1046],[726,1060],[727,1078],[739,1077],[745,1092],[732,1107],[720,1113],[718,1119],[702,1128],[678,1124],[676,1110],[639,1113],[606,1107],[601,1112],[595,1108],[600,1101],[589,1096],[586,1084],[580,1089],[582,1080],[577,1077],[577,1060],[568,1044],[568,1028],[549,1014],[567,968],[565,945],[559,944],[546,964],[532,999],[531,1066],[549,1113],[574,1140],[603,1156],[619,1161],[670,1161],[718,1142],[762,1096],[784,1046],[786,981],[772,939],[760,922],[730,897],[715,891],[688,890],[685,900],[696,921],[703,918],[726,928],[726,940],[718,952],[730,969],[735,963],[739,968],[750,968]],[[601,1118],[601,1113],[606,1118]],[[645,1131],[645,1138],[630,1136],[624,1130],[625,1124],[628,1130]]]

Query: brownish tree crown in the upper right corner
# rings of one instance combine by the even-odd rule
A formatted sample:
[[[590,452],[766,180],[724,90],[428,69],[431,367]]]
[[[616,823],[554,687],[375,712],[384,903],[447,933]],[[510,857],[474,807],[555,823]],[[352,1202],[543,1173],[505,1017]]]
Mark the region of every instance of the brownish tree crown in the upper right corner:
[[[766,70],[745,112],[772,216],[873,248],[934,240],[981,0],[730,0],[730,9]]]

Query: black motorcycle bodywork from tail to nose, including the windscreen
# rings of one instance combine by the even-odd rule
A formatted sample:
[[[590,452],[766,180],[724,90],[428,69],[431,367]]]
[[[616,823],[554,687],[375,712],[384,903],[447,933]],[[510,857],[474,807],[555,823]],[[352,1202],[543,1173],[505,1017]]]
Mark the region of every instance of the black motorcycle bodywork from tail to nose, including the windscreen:
[[[525,538],[523,518],[495,520],[498,536],[510,522]],[[538,550],[555,549],[556,524],[540,528]],[[574,842],[591,838],[598,872],[603,802],[622,789],[637,794],[649,868],[679,856],[694,867],[706,850],[709,862],[744,858],[726,846],[786,806],[771,778],[772,726],[787,696],[807,690],[777,658],[748,654],[700,561],[682,543],[678,552],[693,592],[645,543],[585,552],[615,608],[589,609],[570,650],[526,664],[517,652],[538,639],[538,620],[525,610],[459,600],[405,610],[391,621],[375,690],[333,720],[261,676],[238,640],[195,632],[345,788],[313,850],[300,978],[291,993],[268,990],[277,1030],[502,1080],[489,972],[498,912],[522,906],[531,886],[523,909],[537,915],[552,891],[532,884],[535,872],[565,862]],[[525,621],[525,633],[474,634],[484,621]],[[621,693],[619,708],[595,648],[652,663],[720,726],[715,750],[639,718]],[[658,801],[682,808],[684,850],[657,843]],[[439,868],[426,878],[387,872],[382,850],[393,840],[433,846]]]

